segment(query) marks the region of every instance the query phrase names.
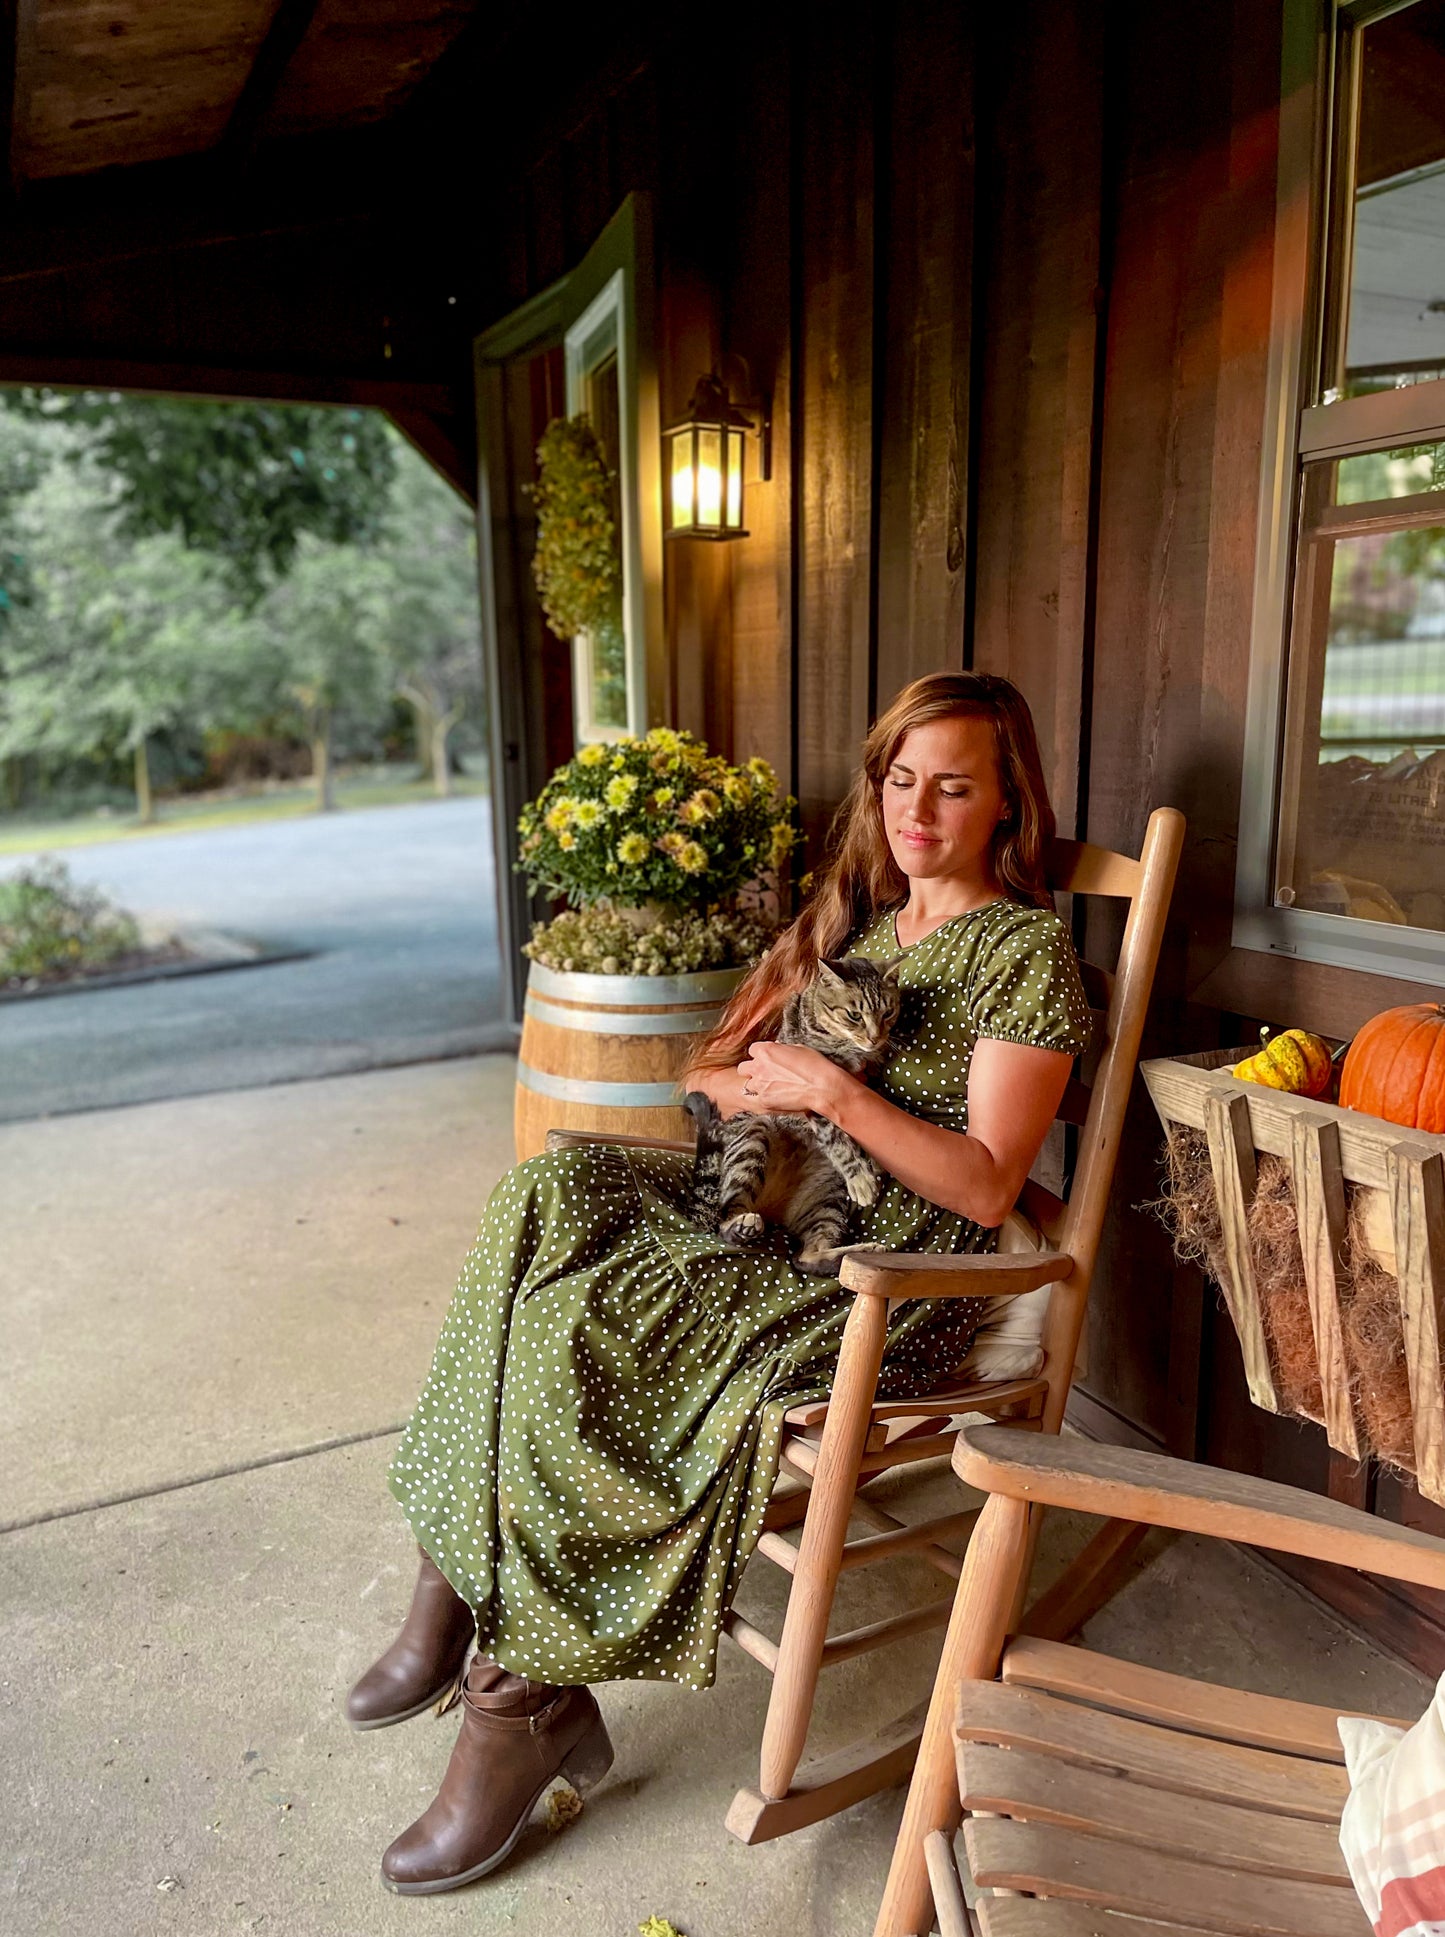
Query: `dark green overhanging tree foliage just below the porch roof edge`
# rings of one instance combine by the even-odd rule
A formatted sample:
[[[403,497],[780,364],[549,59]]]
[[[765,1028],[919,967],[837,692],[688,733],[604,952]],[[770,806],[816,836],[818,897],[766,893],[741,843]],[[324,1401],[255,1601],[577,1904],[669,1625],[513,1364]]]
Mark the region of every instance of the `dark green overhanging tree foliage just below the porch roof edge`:
[[[6,403],[76,432],[77,461],[114,478],[122,533],[215,552],[246,602],[291,569],[302,537],[370,544],[387,511],[395,444],[374,411],[46,389]]]

